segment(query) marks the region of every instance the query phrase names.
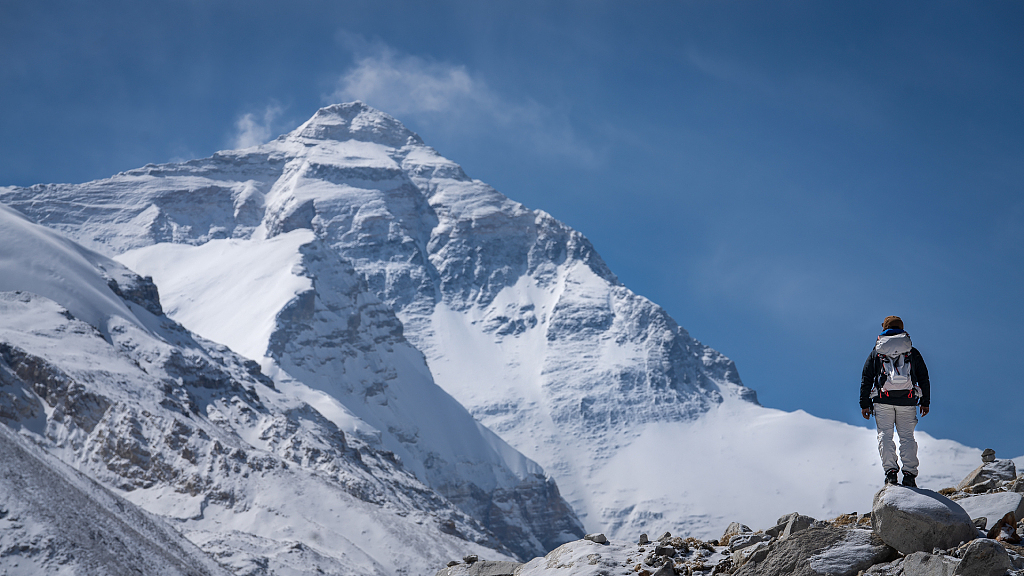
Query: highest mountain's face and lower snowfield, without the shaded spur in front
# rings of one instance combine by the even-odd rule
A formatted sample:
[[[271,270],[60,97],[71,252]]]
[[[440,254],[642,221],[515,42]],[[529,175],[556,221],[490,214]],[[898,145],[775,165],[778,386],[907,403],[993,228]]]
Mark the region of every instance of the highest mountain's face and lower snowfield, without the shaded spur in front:
[[[728,358],[623,286],[583,235],[470,178],[361,102],[324,108],[261,147],[84,184],[9,188],[0,199],[111,254],[226,239],[262,250],[310,231],[316,242],[307,246],[354,268],[437,384],[544,466],[590,531],[633,538],[643,515],[660,512],[717,536],[728,501],[757,505],[724,492],[705,499],[690,489],[707,486],[691,468],[728,479],[729,494],[771,494],[805,513],[865,508],[857,495],[878,485],[868,453],[836,449],[872,433],[761,409]],[[133,265],[150,266],[158,284],[174,282],[177,273],[161,272],[171,249],[154,250]],[[203,317],[200,307],[174,314]],[[307,384],[322,376],[299,360],[324,352],[287,340],[294,347],[279,357],[294,368],[281,368]],[[292,374],[303,368],[306,376]],[[794,447],[795,429],[814,439],[808,448]],[[723,455],[745,445],[763,452],[746,461]],[[936,458],[948,451],[950,469],[973,467],[967,449],[935,446],[946,447],[930,450]],[[808,493],[809,471],[831,492]]]

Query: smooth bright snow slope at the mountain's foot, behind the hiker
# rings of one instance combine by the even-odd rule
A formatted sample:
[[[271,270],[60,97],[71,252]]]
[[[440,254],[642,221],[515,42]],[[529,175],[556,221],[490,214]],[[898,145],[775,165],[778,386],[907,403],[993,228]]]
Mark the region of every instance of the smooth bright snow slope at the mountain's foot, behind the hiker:
[[[981,461],[980,450],[920,430],[916,438],[924,488],[954,486]],[[595,499],[621,510],[608,532],[705,539],[731,522],[770,528],[780,510],[868,512],[885,476],[873,429],[741,402],[692,421],[645,424],[592,474],[601,487]]]

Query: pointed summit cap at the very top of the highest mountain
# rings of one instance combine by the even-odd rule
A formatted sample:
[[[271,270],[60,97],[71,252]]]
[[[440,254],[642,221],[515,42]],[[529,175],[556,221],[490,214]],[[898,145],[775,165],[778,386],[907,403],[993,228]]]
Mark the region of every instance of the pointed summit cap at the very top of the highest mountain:
[[[401,148],[422,145],[420,136],[394,117],[355,100],[324,107],[287,138],[361,140]]]

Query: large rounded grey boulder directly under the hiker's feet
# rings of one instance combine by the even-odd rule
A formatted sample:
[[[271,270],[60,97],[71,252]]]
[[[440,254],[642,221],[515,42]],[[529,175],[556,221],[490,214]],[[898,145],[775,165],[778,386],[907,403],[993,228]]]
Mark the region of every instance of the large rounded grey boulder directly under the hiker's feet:
[[[871,527],[904,554],[950,548],[978,537],[971,517],[956,502],[905,486],[887,486],[874,494]]]

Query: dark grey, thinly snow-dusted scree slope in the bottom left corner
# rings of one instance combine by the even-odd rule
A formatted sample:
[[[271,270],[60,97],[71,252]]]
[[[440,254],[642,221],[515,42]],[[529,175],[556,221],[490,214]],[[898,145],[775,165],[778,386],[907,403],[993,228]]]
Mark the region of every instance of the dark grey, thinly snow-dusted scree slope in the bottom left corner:
[[[173,528],[0,425],[4,573],[228,576]]]

